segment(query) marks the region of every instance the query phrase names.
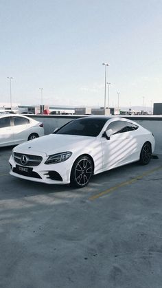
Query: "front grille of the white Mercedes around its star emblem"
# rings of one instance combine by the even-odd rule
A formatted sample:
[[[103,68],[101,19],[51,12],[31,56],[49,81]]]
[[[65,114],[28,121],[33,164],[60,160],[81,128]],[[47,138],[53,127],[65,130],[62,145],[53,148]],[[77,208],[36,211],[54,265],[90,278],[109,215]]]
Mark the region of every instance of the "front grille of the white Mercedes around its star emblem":
[[[30,155],[30,154],[22,154],[22,153],[16,153],[14,152],[14,161],[17,164],[21,164],[21,157],[22,155],[25,155],[27,157],[27,163],[23,164],[23,166],[38,166],[41,162],[43,157],[37,156],[37,155]]]

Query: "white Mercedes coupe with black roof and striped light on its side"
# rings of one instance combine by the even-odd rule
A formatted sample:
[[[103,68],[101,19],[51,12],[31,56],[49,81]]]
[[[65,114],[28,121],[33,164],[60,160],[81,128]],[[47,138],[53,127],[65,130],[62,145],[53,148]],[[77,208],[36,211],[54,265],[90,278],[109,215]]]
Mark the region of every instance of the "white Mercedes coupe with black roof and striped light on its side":
[[[139,160],[148,164],[154,136],[124,118],[89,116],[32,142],[16,146],[10,174],[46,184],[82,188],[92,175]]]

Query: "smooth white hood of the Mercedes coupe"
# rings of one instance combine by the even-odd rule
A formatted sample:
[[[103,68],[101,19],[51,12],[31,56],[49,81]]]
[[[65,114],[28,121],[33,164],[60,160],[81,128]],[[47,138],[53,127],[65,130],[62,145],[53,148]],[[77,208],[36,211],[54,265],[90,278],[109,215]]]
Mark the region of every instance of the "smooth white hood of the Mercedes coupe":
[[[20,144],[14,148],[14,151],[19,153],[40,152],[45,155],[65,151],[74,152],[80,151],[81,148],[86,146],[91,146],[95,139],[95,137],[89,136],[49,134]]]

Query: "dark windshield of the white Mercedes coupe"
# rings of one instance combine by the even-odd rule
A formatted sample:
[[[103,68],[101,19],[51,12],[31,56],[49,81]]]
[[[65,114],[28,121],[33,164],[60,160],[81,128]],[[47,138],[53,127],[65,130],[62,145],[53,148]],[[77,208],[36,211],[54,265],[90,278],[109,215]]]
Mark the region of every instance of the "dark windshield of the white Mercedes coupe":
[[[96,137],[100,134],[108,118],[80,118],[62,126],[56,134],[69,134]]]

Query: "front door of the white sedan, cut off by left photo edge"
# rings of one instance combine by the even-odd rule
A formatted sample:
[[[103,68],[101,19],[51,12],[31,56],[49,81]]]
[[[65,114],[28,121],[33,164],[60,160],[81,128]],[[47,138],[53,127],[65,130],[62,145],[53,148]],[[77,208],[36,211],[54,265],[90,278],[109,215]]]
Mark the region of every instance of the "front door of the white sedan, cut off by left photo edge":
[[[0,146],[12,145],[14,134],[10,124],[10,117],[0,118]]]

